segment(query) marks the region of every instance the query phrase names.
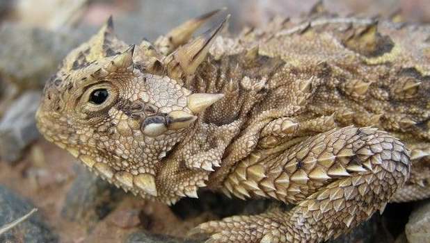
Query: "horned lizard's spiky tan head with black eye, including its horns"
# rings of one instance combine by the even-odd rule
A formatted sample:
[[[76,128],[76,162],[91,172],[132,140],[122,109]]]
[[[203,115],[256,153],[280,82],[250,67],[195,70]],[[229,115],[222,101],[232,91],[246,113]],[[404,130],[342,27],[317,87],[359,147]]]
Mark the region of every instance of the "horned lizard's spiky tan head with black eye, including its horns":
[[[136,46],[118,40],[110,18],[45,85],[36,114],[42,135],[108,181],[157,196],[161,159],[223,97],[184,87],[225,25],[188,42],[196,21],[213,13],[160,37],[157,49],[145,40]]]

